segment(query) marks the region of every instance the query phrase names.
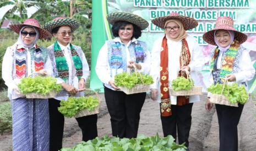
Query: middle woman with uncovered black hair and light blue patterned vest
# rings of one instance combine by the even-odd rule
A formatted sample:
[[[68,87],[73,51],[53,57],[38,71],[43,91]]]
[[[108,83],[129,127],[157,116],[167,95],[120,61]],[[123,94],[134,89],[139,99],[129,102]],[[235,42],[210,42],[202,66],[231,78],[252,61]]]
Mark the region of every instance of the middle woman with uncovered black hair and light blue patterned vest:
[[[104,83],[112,135],[135,138],[146,92],[127,95],[118,91],[114,77],[118,73],[129,72],[132,65],[139,72],[149,72],[150,54],[146,50],[146,43],[137,40],[141,30],[149,24],[138,15],[123,12],[108,14],[107,20],[113,25],[112,32],[116,38],[108,40],[100,49],[96,73]]]

